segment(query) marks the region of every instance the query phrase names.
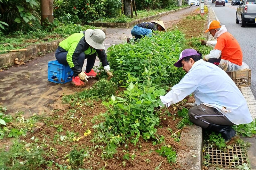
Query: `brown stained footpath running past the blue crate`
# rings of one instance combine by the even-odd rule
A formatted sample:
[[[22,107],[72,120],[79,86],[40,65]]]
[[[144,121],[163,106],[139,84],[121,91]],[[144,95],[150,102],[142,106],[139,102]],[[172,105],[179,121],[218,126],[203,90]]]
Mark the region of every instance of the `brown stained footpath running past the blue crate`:
[[[170,27],[195,9],[196,7],[181,10],[161,19],[166,27]],[[127,37],[131,37],[131,29],[107,28],[107,38],[104,41],[106,50],[112,44],[122,43]],[[54,52],[37,57],[26,65],[0,72],[0,103],[9,109],[7,114],[15,114],[17,111],[23,111],[27,116],[34,113],[47,114],[54,108],[63,107],[61,96],[73,93],[77,87],[71,82],[59,85],[47,81],[47,62],[51,60],[55,60]],[[99,64],[97,58],[95,65]],[[95,79],[89,79],[87,86],[94,81]]]

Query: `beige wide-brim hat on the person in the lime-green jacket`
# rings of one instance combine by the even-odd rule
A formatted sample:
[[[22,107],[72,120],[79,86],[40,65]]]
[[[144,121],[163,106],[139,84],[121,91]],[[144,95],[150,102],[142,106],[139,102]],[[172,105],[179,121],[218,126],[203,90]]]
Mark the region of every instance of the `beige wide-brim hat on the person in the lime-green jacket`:
[[[105,49],[103,41],[106,38],[105,33],[100,29],[87,29],[84,33],[85,41],[94,49]]]

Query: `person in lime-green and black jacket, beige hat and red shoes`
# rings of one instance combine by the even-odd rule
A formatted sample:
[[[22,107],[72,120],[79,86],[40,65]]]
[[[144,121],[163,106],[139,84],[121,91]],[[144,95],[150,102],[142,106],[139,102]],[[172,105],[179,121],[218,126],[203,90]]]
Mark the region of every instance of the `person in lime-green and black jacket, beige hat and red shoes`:
[[[105,38],[106,35],[102,30],[87,29],[83,33],[74,33],[60,42],[55,57],[59,63],[69,65],[74,71],[72,84],[84,85],[83,81],[88,81],[87,78],[96,77],[97,73],[92,70],[96,56],[99,57],[108,76],[113,76],[104,50]],[[86,58],[86,70],[83,72],[82,68]]]

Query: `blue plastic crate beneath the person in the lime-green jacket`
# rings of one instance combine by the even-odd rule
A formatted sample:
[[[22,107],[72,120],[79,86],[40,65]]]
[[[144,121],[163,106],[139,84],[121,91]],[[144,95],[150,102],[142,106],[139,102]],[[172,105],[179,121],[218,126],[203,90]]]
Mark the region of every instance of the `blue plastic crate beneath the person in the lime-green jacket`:
[[[73,71],[68,65],[60,64],[57,60],[48,62],[48,81],[64,84],[72,81]]]

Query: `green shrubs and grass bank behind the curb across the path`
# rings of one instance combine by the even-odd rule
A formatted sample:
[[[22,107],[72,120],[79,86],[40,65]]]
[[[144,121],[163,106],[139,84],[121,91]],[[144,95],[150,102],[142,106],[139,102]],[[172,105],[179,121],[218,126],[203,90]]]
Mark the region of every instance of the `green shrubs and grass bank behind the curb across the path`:
[[[95,29],[88,23],[96,20],[130,22],[180,8],[175,0],[138,0],[136,6],[139,16],[129,18],[121,15],[120,0],[54,0],[53,23],[46,20],[41,25],[39,0],[0,0],[0,50],[21,49],[30,44],[49,42],[86,29]]]

